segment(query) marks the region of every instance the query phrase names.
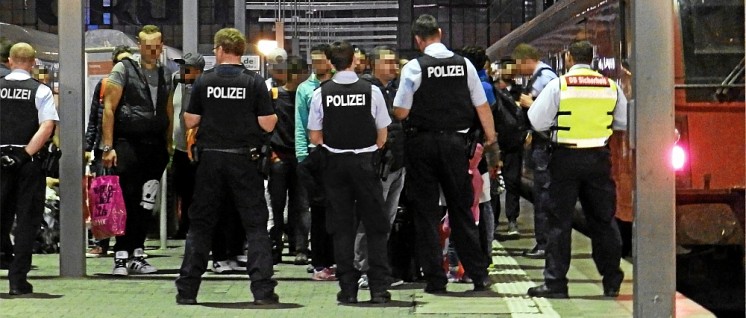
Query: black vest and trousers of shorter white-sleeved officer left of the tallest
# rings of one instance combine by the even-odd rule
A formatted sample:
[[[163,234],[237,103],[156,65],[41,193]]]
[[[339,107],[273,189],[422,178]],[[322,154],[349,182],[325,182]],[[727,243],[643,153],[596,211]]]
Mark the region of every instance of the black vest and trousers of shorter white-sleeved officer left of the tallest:
[[[350,98],[355,96],[357,98]],[[342,101],[363,98],[363,105],[350,107]],[[327,81],[321,85],[324,109],[324,145],[336,150],[368,148],[376,144],[377,128],[371,116],[371,83]],[[330,102],[331,101],[331,102]],[[356,297],[360,271],[353,266],[355,236],[360,221],[368,238],[368,270],[371,296],[388,289],[390,268],[386,242],[391,228],[383,212],[383,187],[378,178],[376,152],[329,152],[323,173],[328,202],[328,230],[334,241],[336,276],[341,297]],[[390,296],[388,296],[390,298]],[[349,299],[349,298],[346,298]]]

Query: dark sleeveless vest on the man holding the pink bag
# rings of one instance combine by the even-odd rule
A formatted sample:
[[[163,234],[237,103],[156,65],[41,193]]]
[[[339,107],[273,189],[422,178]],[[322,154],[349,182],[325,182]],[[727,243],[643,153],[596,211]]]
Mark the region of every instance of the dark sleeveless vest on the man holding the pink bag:
[[[168,129],[169,87],[163,67],[158,67],[158,93],[156,104],[150,98],[150,87],[145,75],[135,62],[124,59],[125,81],[122,98],[114,114],[116,138],[164,139]]]

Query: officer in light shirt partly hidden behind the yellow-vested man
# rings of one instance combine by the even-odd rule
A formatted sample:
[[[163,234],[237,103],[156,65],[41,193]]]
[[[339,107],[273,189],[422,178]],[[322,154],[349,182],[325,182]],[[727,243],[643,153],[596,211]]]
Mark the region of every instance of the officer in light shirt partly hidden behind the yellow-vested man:
[[[541,94],[544,87],[552,79],[557,78],[552,68],[540,61],[539,51],[529,44],[519,44],[513,50],[513,59],[522,75],[530,75],[528,84],[519,98],[521,107],[530,108],[534,99]],[[531,164],[533,173],[533,203],[534,203],[534,234],[536,245],[531,250],[524,251],[528,258],[544,258],[546,238],[546,209],[549,205],[546,188],[549,185],[549,139],[548,132],[534,130],[531,135]],[[506,203],[507,204],[507,203]]]

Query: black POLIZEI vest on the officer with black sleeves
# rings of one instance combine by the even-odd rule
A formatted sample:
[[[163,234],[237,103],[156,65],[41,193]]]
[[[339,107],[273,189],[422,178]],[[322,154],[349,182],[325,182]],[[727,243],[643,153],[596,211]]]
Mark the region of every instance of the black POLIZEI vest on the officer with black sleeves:
[[[269,93],[264,82],[257,85],[257,81],[261,77],[242,65],[219,65],[202,74],[195,92],[202,106],[197,145],[219,149],[261,145],[256,96]]]

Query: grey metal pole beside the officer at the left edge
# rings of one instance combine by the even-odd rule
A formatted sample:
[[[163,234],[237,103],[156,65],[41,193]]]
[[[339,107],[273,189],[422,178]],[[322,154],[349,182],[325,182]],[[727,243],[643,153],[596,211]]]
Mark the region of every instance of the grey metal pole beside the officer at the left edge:
[[[83,1],[58,2],[60,62],[60,275],[83,277]]]

